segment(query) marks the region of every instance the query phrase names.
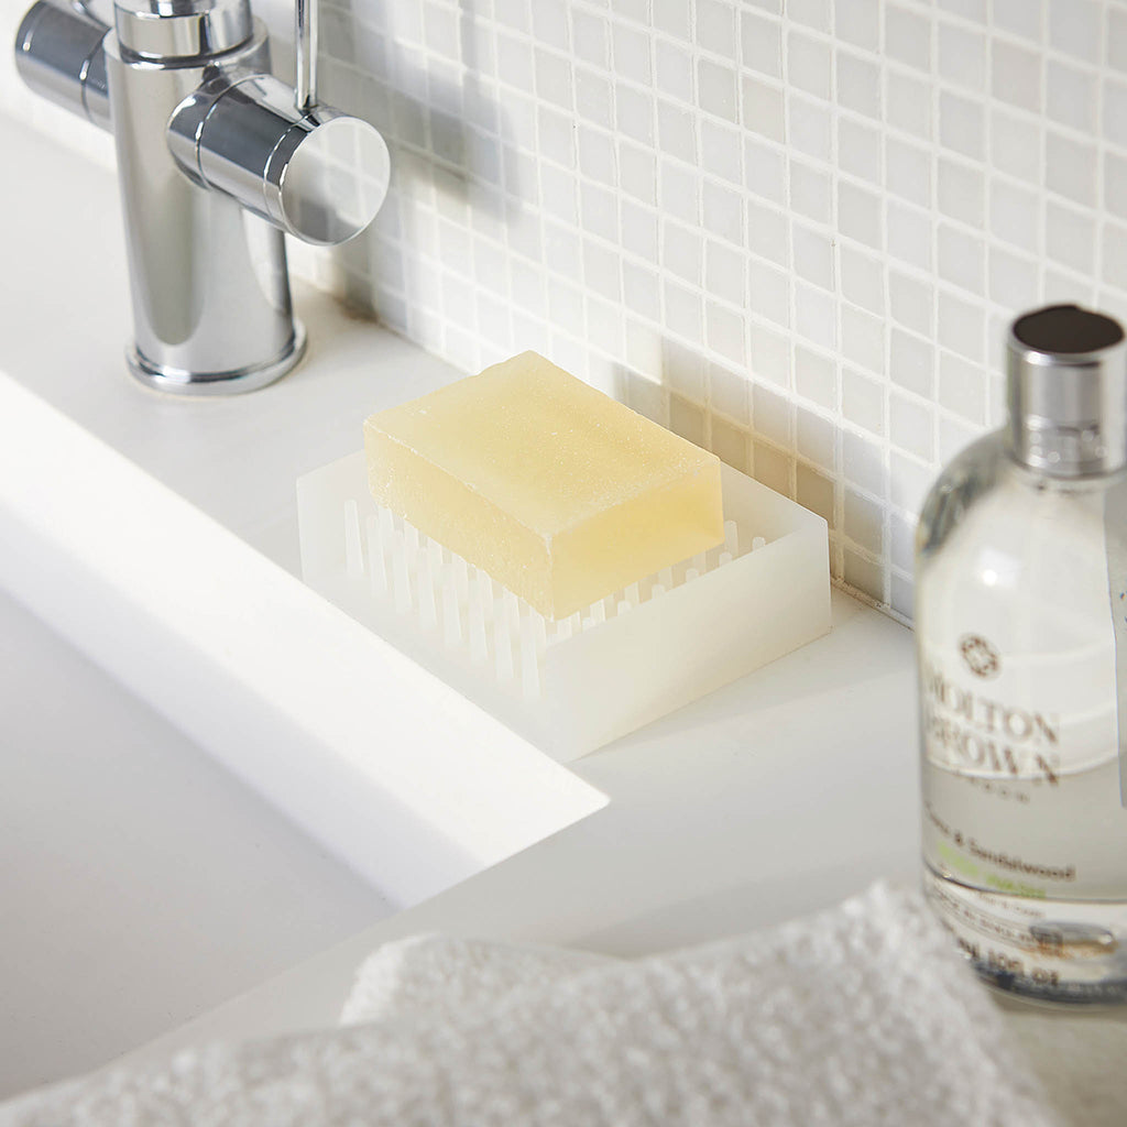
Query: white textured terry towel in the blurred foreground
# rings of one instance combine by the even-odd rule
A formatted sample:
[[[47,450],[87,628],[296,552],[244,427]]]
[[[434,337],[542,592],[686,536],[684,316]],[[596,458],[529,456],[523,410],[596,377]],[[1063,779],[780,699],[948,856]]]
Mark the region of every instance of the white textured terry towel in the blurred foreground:
[[[33,1093],[0,1124],[1055,1124],[950,939],[884,886],[631,961],[393,943],[347,1017],[365,1023]]]

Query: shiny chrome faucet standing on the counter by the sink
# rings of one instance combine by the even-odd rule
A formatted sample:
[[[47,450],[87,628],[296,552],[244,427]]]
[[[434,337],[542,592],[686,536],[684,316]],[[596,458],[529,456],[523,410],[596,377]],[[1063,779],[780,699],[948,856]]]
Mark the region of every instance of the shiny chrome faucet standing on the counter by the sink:
[[[34,90],[114,133],[130,370],[179,393],[264,387],[305,345],[284,234],[358,234],[387,194],[388,148],[317,103],[316,0],[296,0],[296,90],[269,72],[249,0],[114,0],[112,15],[101,2],[37,0],[16,62]]]

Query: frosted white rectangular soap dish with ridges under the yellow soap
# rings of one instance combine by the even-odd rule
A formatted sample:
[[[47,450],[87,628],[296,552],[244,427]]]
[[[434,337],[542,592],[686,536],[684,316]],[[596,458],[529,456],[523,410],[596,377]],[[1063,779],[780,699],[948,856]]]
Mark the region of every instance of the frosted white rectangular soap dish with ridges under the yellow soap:
[[[298,481],[304,580],[568,762],[829,629],[826,522],[721,467],[725,540],[552,622],[381,508],[363,452]]]

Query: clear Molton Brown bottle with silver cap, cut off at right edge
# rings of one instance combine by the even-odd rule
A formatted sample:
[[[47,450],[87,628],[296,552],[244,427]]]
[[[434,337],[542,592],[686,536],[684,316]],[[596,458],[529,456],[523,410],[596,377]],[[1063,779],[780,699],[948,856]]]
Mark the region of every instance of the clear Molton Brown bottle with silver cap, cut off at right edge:
[[[1127,1001],[1127,343],[1019,318],[916,536],[924,888],[978,973]]]

